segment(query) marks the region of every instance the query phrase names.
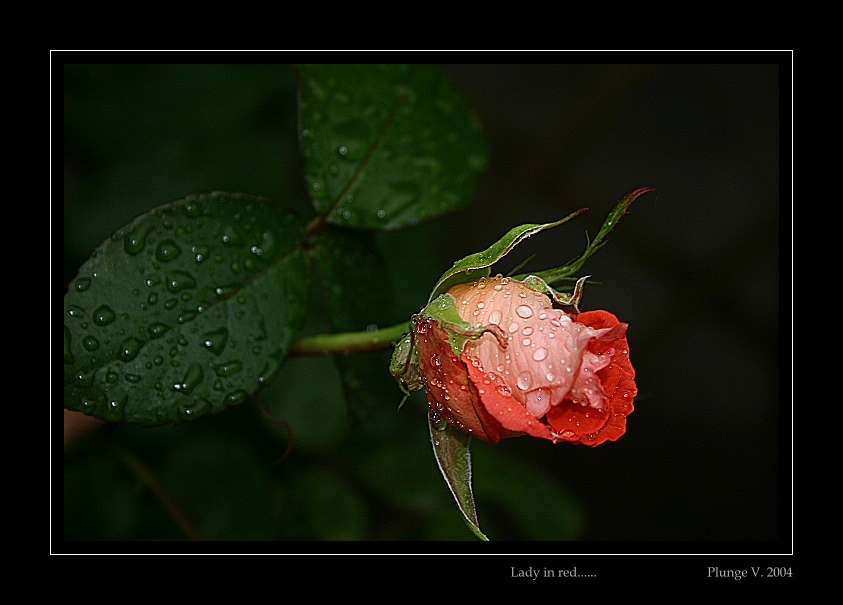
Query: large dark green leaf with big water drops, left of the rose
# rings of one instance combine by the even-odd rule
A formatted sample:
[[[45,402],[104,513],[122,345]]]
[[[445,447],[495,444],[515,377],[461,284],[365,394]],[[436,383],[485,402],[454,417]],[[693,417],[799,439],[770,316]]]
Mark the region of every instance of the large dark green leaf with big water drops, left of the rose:
[[[187,420],[241,403],[278,370],[305,311],[303,228],[266,200],[215,193],[116,232],[69,285],[64,405]]]

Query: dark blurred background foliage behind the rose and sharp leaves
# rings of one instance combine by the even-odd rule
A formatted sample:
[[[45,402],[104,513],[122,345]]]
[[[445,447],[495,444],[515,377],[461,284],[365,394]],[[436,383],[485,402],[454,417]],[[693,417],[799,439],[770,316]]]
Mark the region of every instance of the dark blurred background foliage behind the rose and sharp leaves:
[[[380,248],[392,284],[372,324],[409,318],[454,260],[515,225],[590,208],[495,272],[530,255],[529,268],[559,266],[623,195],[658,189],[584,268],[602,285],[581,307],[630,324],[639,397],[627,434],[594,449],[475,440],[492,540],[775,548],[789,535],[781,374],[792,368],[780,363],[779,326],[779,103],[790,83],[779,63],[789,56],[747,58],[442,66],[483,124],[488,169],[465,209],[359,236]],[[188,194],[243,191],[312,215],[289,66],[56,67],[64,204],[56,196],[52,210],[64,217],[65,284],[110,233]],[[325,327],[314,318],[308,330]],[[54,503],[63,539],[474,541],[436,468],[423,395],[396,412],[389,355],[359,354],[372,369],[357,408],[366,414],[349,413],[330,358],[299,357],[223,414],[72,439]]]

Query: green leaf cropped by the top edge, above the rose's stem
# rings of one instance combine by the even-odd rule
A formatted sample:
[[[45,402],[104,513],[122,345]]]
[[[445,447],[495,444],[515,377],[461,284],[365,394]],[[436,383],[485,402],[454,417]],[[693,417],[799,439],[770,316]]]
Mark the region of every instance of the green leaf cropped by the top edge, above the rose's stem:
[[[469,202],[487,149],[441,69],[297,70],[308,194],[330,222],[398,229]]]

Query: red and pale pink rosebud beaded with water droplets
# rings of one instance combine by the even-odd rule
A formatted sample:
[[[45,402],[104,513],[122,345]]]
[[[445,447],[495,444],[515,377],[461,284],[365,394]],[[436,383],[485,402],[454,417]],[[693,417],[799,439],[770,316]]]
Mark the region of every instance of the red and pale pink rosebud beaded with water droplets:
[[[405,382],[424,386],[432,417],[492,443],[527,434],[595,446],[623,435],[637,393],[627,324],[553,295],[534,276],[482,278],[414,318]]]

